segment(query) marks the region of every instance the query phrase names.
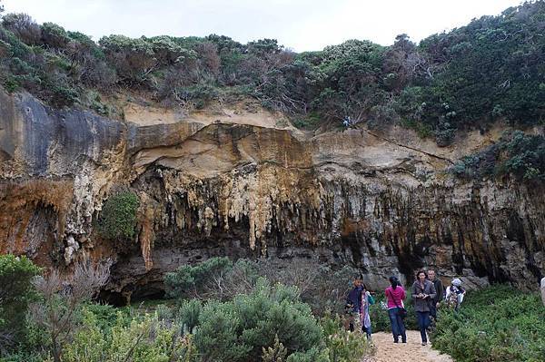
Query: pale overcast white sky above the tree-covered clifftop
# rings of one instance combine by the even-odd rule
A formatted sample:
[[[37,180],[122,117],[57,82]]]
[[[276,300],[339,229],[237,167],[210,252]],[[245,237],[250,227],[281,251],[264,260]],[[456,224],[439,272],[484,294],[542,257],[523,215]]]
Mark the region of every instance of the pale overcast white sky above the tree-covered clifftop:
[[[246,43],[275,38],[296,52],[347,39],[389,45],[396,34],[413,41],[498,15],[520,0],[4,0],[6,12],[25,12],[92,35],[204,36]]]

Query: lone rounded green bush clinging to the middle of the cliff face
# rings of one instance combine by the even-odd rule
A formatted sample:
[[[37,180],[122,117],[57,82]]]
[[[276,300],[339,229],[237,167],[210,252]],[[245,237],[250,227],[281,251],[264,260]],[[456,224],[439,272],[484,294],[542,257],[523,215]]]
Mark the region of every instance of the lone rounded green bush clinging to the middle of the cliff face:
[[[140,201],[132,191],[121,191],[104,202],[97,227],[110,240],[132,240],[136,232],[136,211]]]

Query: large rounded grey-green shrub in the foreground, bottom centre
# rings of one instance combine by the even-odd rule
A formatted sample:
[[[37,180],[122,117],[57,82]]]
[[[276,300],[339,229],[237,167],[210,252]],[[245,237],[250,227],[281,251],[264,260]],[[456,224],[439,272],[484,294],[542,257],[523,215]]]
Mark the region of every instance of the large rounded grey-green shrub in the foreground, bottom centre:
[[[249,295],[208,302],[194,333],[195,346],[205,360],[255,361],[276,335],[290,354],[320,345],[322,328],[298,294],[262,279]]]

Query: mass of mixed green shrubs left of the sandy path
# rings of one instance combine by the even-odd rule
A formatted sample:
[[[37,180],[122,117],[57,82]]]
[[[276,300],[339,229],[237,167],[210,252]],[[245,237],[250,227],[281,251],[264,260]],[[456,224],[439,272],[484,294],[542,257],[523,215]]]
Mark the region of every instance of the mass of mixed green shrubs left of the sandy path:
[[[213,258],[184,267],[168,283],[186,299],[151,312],[91,304],[107,268],[78,264],[70,279],[52,270],[31,284],[39,269],[28,259],[0,257],[0,293],[10,293],[0,295],[1,323],[15,316],[26,329],[17,344],[0,348],[0,361],[356,362],[372,353],[364,335],[343,330],[339,318],[314,317],[300,289],[260,276],[272,274],[271,265]]]

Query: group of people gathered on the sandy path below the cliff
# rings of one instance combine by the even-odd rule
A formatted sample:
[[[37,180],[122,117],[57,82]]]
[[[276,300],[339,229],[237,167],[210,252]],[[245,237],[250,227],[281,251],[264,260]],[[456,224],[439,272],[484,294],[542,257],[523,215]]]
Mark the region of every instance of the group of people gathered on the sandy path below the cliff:
[[[407,343],[404,321],[407,310],[403,303],[407,295],[397,277],[390,277],[390,286],[384,290],[384,295],[391,322],[393,343],[399,343],[400,338],[401,343]],[[437,308],[439,308],[441,301],[444,300],[447,306],[458,310],[464,295],[465,290],[461,287],[461,279],[452,279],[451,285],[443,289],[441,280],[435,275],[435,270],[428,269],[417,272],[416,280],[411,287],[411,298],[421,332],[422,346],[426,346],[428,343],[427,331],[431,326],[431,320],[437,320]],[[374,302],[374,298],[362,283],[362,279],[355,279],[354,288],[347,298],[347,308],[352,310],[353,315],[358,316],[362,331],[366,333],[367,338],[371,338],[372,335],[369,306]],[[353,321],[350,328],[354,329]]]

